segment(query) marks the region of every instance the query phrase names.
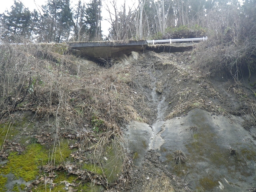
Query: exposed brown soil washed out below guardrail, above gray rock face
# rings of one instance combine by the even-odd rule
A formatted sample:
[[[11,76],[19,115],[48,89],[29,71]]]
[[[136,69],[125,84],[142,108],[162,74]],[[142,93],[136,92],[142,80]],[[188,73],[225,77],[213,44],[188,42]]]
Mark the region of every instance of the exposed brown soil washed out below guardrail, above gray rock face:
[[[216,114],[248,114],[248,108],[255,101],[253,91],[256,89],[248,84],[248,77],[238,82],[232,78],[209,76],[193,62],[192,53],[144,52],[132,65],[134,89],[142,92],[147,98],[144,101],[155,110],[155,105],[164,98],[163,106],[167,107],[163,116],[166,118],[184,115],[195,107]],[[158,100],[154,100],[152,92],[156,92]],[[156,113],[150,116],[149,121],[155,122],[156,116]]]

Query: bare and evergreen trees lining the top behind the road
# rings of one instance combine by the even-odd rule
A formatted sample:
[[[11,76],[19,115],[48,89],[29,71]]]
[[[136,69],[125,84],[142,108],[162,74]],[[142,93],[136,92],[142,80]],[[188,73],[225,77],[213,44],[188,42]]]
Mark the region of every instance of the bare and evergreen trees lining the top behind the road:
[[[81,0],[72,8],[70,0],[48,0],[42,10],[29,11],[14,1],[10,11],[0,14],[2,42],[68,42],[191,38],[214,36],[234,40],[255,32],[256,2],[245,0]],[[136,6],[136,7],[135,7]],[[128,8],[127,8],[128,7]],[[102,35],[102,10],[109,14],[108,36]],[[223,36],[222,36],[223,35]]]

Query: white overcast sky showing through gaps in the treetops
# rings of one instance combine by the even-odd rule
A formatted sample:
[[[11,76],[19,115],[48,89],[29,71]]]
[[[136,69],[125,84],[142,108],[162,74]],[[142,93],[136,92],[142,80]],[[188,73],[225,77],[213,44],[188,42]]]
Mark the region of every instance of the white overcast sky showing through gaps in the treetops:
[[[5,12],[7,9],[10,10],[10,7],[14,4],[14,0],[0,0],[1,4],[0,4],[0,14],[2,14],[3,12]],[[16,0],[19,1],[19,0]],[[42,5],[46,4],[47,0],[20,0],[20,2],[22,2],[24,4],[25,7],[29,8],[30,11],[33,11],[34,9],[37,10],[37,6],[38,8]],[[102,31],[104,35],[108,35],[108,29],[110,28],[110,24],[107,21],[109,18],[109,14],[106,11],[106,3],[108,3],[108,1],[110,0],[104,0],[102,1]],[[90,0],[84,0],[85,3],[89,3]],[[118,3],[123,4],[124,0],[117,0]],[[134,4],[134,2],[138,2],[138,0],[126,0],[126,5],[127,6],[132,6]],[[71,7],[74,7],[76,4],[78,4],[78,0],[70,0],[70,4]],[[108,3],[109,4],[109,3]],[[117,6],[120,6],[117,5]],[[110,4],[109,4],[110,6]],[[110,6],[111,8],[111,6]]]

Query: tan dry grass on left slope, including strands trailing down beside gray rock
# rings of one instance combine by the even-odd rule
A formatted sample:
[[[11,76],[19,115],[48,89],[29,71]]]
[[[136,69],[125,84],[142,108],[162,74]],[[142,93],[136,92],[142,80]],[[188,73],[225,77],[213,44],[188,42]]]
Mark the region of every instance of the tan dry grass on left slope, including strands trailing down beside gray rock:
[[[120,127],[131,120],[147,120],[136,111],[144,105],[143,96],[134,93],[128,69],[86,65],[68,54],[65,44],[2,44],[0,54],[0,120],[23,110],[35,112],[38,119],[53,116],[57,147],[62,134],[79,133],[86,124],[94,132],[79,138],[75,147],[93,153],[74,158],[101,164],[115,147],[121,170],[129,169]]]

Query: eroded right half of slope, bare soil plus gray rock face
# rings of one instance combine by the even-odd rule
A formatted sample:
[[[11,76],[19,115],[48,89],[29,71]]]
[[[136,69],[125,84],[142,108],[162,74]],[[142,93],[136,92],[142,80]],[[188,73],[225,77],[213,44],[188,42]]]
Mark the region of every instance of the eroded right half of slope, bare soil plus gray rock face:
[[[192,52],[144,52],[132,68],[135,90],[153,112],[148,124],[131,122],[124,130],[136,166],[144,168],[144,155],[155,150],[191,190],[254,186],[255,97],[246,77],[210,77],[197,68]],[[186,163],[176,164],[178,150]]]

